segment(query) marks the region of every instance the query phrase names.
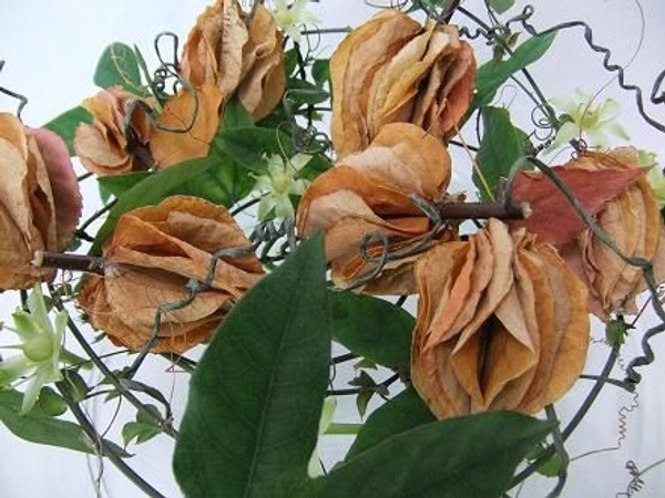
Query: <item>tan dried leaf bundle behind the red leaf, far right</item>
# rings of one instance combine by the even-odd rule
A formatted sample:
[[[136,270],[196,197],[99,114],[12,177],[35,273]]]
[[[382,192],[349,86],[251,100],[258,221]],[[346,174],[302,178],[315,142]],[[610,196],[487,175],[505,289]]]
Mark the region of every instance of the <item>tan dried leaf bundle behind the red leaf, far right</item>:
[[[585,153],[565,165],[592,172],[638,172],[638,178],[596,214],[598,226],[627,258],[652,262],[657,283],[665,280],[664,227],[658,206],[640,167],[637,152],[621,147],[607,154]],[[604,184],[596,184],[604,189]],[[637,312],[635,295],[646,289],[643,271],[621,259],[590,228],[560,247],[563,258],[586,281],[590,310],[603,320],[612,312]]]

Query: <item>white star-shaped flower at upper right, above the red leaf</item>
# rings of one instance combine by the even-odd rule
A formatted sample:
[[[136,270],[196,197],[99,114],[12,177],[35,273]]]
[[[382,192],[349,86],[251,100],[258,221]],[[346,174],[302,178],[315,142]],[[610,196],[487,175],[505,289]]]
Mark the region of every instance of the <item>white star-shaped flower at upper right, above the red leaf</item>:
[[[552,104],[567,116],[552,145],[548,151],[554,151],[573,138],[586,137],[589,145],[608,148],[610,135],[628,139],[625,128],[616,122],[621,112],[618,102],[613,98],[601,101],[594,105],[593,95],[576,89],[573,98],[552,98]]]

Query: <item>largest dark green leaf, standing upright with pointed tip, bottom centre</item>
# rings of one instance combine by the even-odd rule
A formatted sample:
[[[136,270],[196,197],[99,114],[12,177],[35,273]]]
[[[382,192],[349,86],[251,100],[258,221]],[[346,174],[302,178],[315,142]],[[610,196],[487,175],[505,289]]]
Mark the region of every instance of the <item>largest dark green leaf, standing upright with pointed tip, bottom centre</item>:
[[[190,498],[291,497],[328,384],[323,237],[303,242],[224,320],[191,381],[174,470]]]

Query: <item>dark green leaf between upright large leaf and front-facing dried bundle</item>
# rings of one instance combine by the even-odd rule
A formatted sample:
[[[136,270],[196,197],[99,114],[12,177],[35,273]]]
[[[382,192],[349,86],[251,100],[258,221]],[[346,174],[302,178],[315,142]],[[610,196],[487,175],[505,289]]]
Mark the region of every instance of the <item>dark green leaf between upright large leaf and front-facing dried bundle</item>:
[[[332,336],[348,350],[391,369],[411,361],[413,317],[388,301],[330,291]]]

